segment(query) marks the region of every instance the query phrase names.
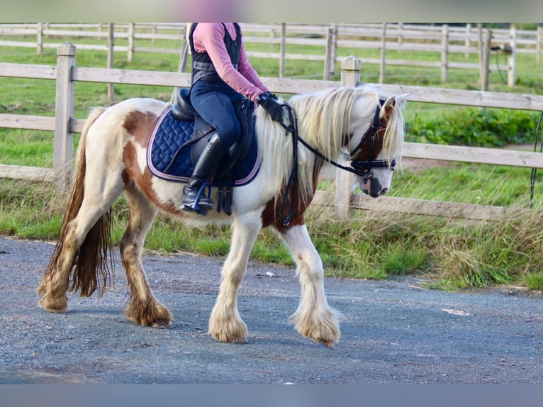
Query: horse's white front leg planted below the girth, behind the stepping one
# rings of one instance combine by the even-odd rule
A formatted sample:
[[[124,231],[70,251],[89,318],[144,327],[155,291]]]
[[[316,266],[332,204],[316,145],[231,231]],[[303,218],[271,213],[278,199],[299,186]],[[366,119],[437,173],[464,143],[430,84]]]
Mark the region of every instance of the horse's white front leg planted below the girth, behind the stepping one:
[[[223,264],[219,294],[209,318],[209,333],[221,342],[247,342],[247,325],[237,311],[237,289],[261,228],[259,213],[237,216],[233,221],[232,244]]]

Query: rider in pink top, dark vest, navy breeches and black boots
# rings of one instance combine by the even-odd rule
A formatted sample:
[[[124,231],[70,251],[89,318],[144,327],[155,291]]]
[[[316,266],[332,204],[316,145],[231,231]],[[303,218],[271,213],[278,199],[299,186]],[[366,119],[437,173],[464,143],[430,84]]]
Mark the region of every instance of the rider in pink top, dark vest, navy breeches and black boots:
[[[264,106],[275,120],[281,117],[282,108],[250,64],[237,23],[192,23],[187,33],[192,54],[191,104],[216,133],[183,189],[181,208],[206,215],[213,208],[213,200],[201,194],[196,202],[198,191],[240,137],[235,101],[245,96]]]

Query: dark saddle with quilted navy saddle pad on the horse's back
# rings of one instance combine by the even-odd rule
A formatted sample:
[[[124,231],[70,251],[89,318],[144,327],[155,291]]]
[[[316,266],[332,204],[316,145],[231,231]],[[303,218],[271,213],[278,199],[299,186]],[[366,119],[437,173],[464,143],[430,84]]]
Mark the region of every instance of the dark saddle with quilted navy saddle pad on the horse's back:
[[[260,157],[254,130],[254,104],[242,99],[235,104],[242,133],[220,162],[209,182],[218,186],[217,210],[230,214],[233,186],[242,186],[257,176]],[[179,90],[177,103],[168,106],[159,118],[147,149],[147,167],[156,177],[173,182],[189,182],[198,157],[215,128],[196,113],[189,99],[189,89]]]

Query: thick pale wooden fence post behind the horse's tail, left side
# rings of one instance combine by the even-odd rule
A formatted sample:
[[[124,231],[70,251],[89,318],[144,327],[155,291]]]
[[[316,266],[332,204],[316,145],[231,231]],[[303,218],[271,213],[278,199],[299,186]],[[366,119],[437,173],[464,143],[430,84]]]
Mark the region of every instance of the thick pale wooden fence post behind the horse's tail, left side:
[[[74,116],[75,45],[64,43],[57,50],[57,90],[55,101],[55,152],[53,169],[61,185],[72,172],[74,135],[69,132],[69,121]]]

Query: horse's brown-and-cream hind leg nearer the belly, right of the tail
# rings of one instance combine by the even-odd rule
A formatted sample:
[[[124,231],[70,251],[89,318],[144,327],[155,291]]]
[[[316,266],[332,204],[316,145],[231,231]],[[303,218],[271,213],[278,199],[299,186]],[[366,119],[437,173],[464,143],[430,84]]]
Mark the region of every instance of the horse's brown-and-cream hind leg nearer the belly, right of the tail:
[[[134,186],[127,186],[125,196],[130,207],[130,219],[119,247],[130,286],[126,316],[140,325],[169,327],[172,325],[172,313],[155,299],[141,262],[145,236],[157,215],[157,209]]]

